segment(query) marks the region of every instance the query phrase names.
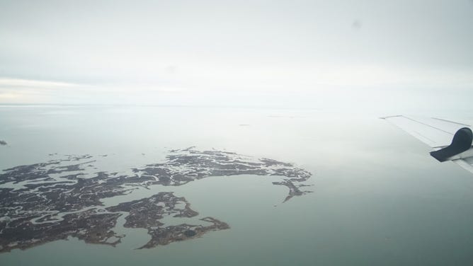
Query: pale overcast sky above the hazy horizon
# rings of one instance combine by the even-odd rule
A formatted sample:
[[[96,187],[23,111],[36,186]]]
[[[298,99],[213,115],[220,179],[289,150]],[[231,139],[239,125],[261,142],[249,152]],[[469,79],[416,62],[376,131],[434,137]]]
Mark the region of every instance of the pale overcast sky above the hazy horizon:
[[[473,1],[0,0],[0,103],[463,108]]]

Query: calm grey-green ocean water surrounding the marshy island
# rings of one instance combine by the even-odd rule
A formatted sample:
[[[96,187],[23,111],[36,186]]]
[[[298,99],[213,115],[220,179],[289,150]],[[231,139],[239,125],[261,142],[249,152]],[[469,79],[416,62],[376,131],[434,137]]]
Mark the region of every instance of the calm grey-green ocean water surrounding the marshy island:
[[[136,250],[143,229],[115,248],[74,238],[0,254],[1,265],[472,265],[473,176],[377,114],[334,110],[4,105],[0,169],[48,154],[108,154],[122,171],[196,146],[295,163],[314,192],[254,175],[152,187],[174,191],[231,229]],[[464,117],[465,118],[465,117]],[[154,191],[156,190],[156,191]],[[140,194],[141,193],[141,194]],[[123,217],[122,217],[123,218]],[[121,219],[121,224],[123,220]]]

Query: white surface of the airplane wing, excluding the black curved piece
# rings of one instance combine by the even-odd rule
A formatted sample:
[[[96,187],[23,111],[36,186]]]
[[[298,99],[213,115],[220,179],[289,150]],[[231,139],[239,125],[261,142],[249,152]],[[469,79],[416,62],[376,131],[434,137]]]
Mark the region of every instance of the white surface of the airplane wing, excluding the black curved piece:
[[[471,129],[470,125],[439,118],[406,117],[404,115],[381,118],[431,146],[434,151],[449,146],[452,143],[453,136],[459,129],[464,127]],[[473,173],[473,149],[452,156],[448,161],[453,161]]]

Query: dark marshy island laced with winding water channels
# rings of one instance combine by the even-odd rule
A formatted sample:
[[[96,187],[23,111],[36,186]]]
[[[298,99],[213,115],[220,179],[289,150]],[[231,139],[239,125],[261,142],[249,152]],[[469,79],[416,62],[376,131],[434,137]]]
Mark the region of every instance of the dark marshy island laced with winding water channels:
[[[199,213],[190,208],[190,202],[174,195],[173,186],[212,176],[264,175],[277,178],[274,185],[288,188],[283,200],[286,202],[310,192],[301,188],[308,186],[312,175],[292,163],[229,151],[200,151],[195,147],[171,150],[164,161],[132,168],[128,174],[97,172],[94,163],[96,159],[90,154],[69,155],[3,170],[0,253],[69,237],[115,246],[125,237],[113,231],[120,216],[125,219],[123,227],[146,229],[151,237],[138,248],[186,241],[210,231],[229,229],[229,225],[211,216],[198,219]],[[103,204],[103,199],[127,195],[140,187],[169,190],[113,206]],[[166,225],[166,216],[196,219],[193,224]]]

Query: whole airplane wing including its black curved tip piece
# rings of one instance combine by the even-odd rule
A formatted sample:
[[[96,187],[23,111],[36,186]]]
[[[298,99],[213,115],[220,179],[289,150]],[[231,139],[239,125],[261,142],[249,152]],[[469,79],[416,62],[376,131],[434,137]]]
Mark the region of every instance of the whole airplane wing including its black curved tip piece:
[[[473,133],[470,125],[440,118],[381,117],[430,146],[438,161],[453,161],[473,173]]]

